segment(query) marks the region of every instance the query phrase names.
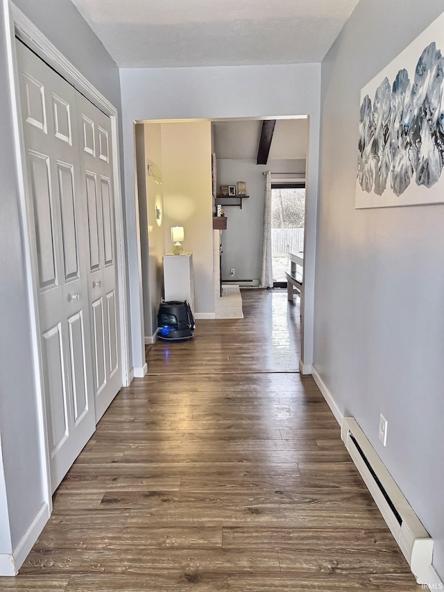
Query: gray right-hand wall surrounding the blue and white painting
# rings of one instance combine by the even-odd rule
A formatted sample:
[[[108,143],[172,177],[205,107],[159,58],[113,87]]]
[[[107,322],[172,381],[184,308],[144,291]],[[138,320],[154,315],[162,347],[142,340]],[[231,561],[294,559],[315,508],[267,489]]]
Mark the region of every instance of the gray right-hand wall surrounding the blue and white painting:
[[[355,210],[355,182],[361,87],[443,9],[442,0],[361,0],[323,61],[314,350],[341,411],[433,536],[441,577],[444,205]]]

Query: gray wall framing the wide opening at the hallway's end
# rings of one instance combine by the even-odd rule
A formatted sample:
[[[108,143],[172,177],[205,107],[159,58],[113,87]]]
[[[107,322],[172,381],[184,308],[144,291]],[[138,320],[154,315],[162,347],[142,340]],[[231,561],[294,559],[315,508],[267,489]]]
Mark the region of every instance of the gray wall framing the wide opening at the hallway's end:
[[[126,226],[130,274],[133,360],[142,366],[142,311],[139,302],[137,201],[134,185],[134,120],[237,118],[309,115],[305,332],[303,359],[312,362],[314,242],[318,195],[318,139],[321,66],[201,67],[121,69],[125,158]],[[230,92],[221,92],[229,88]],[[139,335],[139,337],[137,337]]]

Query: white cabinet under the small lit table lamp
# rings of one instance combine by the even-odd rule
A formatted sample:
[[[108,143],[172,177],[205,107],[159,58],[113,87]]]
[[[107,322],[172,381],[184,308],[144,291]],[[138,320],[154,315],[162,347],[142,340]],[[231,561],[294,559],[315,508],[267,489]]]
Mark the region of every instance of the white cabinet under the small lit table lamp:
[[[165,300],[188,301],[194,313],[193,253],[164,255]]]

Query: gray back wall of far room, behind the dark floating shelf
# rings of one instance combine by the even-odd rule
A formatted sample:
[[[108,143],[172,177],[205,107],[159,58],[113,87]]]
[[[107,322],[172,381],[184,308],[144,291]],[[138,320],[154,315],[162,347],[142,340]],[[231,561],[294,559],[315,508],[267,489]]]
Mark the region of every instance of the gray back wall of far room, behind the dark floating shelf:
[[[218,193],[220,185],[236,185],[237,181],[245,181],[250,196],[242,201],[242,209],[231,205],[225,208],[227,230],[221,232],[222,280],[261,278],[265,171],[305,174],[305,160],[268,160],[268,164],[256,164],[256,160],[217,159]],[[229,199],[224,201],[230,203]],[[233,201],[239,203],[237,198]],[[230,276],[232,267],[235,269],[234,276]]]

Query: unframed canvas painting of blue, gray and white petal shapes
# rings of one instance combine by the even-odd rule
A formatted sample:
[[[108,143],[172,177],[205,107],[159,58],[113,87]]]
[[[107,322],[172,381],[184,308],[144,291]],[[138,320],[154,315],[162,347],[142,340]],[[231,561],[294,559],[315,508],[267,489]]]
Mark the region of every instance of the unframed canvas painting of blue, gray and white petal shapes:
[[[356,208],[444,203],[444,13],[361,90]]]

